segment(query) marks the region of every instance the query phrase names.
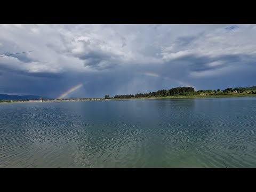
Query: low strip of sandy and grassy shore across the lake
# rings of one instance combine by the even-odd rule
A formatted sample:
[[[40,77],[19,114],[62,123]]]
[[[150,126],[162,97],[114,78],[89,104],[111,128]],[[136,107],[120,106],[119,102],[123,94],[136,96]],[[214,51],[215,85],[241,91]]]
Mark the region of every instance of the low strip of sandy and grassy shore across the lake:
[[[90,98],[90,99],[45,99],[43,102],[62,102],[62,101],[101,101],[101,100],[127,100],[127,99],[193,99],[193,98],[234,98],[234,97],[256,97],[256,94],[227,94],[227,95],[191,95],[191,96],[166,96],[166,97],[141,97],[141,98]],[[0,103],[23,103],[36,102],[40,100],[0,100]]]

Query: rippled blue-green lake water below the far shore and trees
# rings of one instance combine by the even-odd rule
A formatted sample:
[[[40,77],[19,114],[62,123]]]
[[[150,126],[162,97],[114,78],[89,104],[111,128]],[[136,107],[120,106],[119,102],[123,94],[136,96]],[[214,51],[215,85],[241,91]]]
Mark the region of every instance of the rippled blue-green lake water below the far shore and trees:
[[[0,103],[0,167],[256,167],[256,97]]]

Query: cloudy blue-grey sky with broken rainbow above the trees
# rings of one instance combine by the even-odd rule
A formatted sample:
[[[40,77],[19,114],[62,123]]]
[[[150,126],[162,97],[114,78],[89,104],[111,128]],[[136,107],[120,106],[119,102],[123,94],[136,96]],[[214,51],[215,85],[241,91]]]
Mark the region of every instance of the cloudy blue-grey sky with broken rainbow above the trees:
[[[0,94],[103,98],[256,85],[256,25],[0,25]]]

